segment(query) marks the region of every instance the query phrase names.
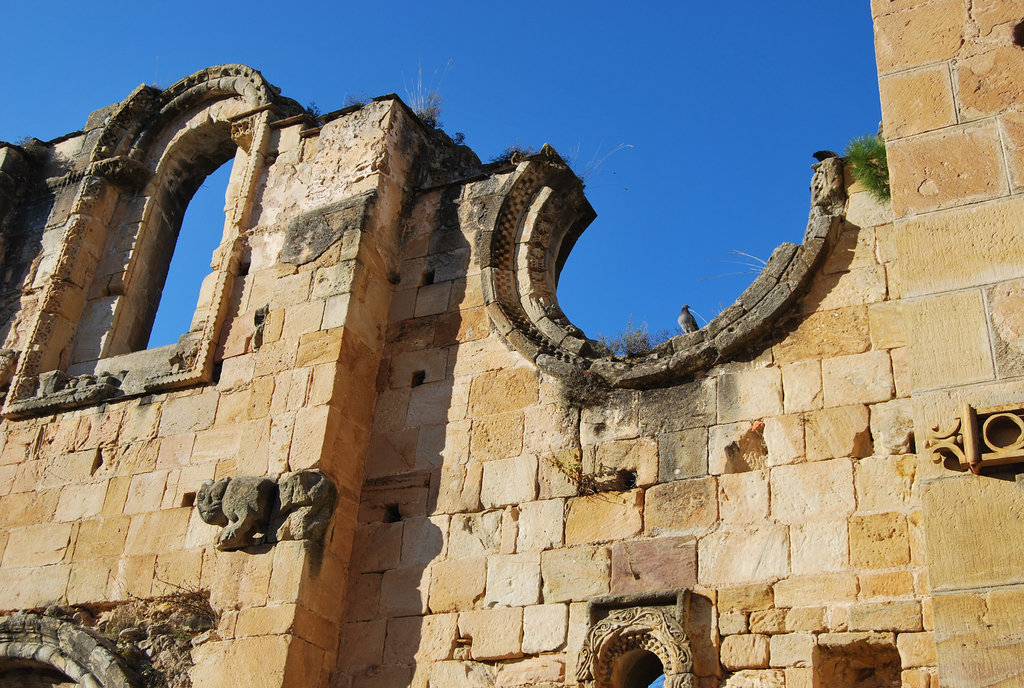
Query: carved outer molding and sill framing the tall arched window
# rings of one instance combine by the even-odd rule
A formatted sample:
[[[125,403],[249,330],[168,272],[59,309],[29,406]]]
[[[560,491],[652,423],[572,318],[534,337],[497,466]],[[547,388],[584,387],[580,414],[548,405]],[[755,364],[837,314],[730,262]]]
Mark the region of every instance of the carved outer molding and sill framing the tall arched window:
[[[119,204],[152,190],[145,187],[155,179],[166,153],[160,148],[169,127],[222,100],[234,102],[231,121],[225,128],[237,135],[237,144],[257,155],[246,158],[239,199],[228,214],[233,236],[225,239],[214,256],[217,278],[202,324],[182,337],[168,370],[136,385],[138,389],[126,389],[121,385],[123,380],[113,380],[112,375],[98,370],[95,376],[86,376],[88,379],[61,378]],[[264,165],[261,154],[269,139],[270,123],[301,112],[298,103],[281,97],[259,72],[244,64],[208,68],[163,90],[139,86],[115,110],[103,125],[65,224],[60,249],[13,373],[4,416],[52,412],[118,394],[185,386],[210,377],[225,295],[238,267],[239,236],[251,212],[249,200]],[[147,203],[140,212],[148,213],[150,206]],[[137,221],[144,223],[144,219],[140,216]],[[50,372],[57,379],[49,380],[52,389],[47,389],[41,376]]]

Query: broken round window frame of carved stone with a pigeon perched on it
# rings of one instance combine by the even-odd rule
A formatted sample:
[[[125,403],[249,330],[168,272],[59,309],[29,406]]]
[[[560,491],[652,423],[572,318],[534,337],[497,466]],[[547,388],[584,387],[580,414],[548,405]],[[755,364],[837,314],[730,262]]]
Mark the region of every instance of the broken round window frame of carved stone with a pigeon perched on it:
[[[556,375],[586,369],[612,387],[664,386],[728,360],[787,312],[839,231],[846,201],[843,164],[829,158],[813,167],[804,243],[775,249],[736,302],[705,328],[624,359],[588,339],[558,305],[558,275],[596,214],[580,179],[546,145],[512,171],[496,193],[493,224],[481,232],[487,313],[508,343],[542,369]]]

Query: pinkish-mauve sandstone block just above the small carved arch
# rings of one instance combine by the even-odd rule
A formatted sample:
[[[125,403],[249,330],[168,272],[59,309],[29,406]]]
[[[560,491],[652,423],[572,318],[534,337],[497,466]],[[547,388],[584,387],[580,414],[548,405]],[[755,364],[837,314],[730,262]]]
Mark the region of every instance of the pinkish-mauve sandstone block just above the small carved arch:
[[[696,573],[696,543],[690,538],[615,543],[611,548],[612,595],[692,588]]]

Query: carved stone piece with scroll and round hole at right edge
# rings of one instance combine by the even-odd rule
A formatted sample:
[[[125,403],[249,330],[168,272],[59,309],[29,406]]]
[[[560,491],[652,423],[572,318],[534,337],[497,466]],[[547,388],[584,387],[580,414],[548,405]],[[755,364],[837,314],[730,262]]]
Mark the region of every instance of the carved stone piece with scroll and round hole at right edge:
[[[964,404],[959,418],[929,430],[928,451],[935,463],[953,459],[972,473],[1024,463],[1024,406]]]

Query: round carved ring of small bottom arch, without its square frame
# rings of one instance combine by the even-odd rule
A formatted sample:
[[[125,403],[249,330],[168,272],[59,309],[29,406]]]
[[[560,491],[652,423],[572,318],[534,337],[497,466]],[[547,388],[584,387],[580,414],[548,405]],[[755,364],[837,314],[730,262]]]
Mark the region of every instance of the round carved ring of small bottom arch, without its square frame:
[[[693,655],[686,633],[659,607],[614,609],[591,627],[580,651],[577,679],[593,680],[594,688],[614,688],[618,660],[636,650],[657,656],[666,688],[692,688]]]

